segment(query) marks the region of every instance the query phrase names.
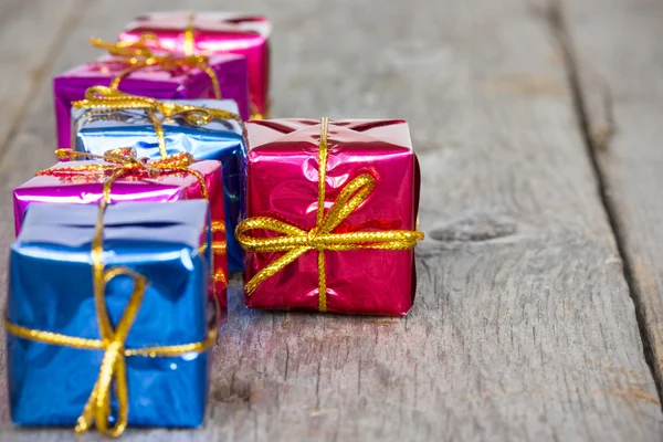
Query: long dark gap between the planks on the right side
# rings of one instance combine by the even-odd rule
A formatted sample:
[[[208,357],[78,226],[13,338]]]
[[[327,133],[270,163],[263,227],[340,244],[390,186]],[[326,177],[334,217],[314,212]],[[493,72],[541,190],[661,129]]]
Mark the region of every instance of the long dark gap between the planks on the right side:
[[[635,319],[638,322],[638,329],[640,332],[640,338],[642,340],[644,357],[646,365],[652,373],[659,398],[663,398],[663,376],[654,368],[652,360],[652,339],[646,332],[646,325],[644,319],[644,306],[635,293],[635,283],[633,281],[633,264],[627,253],[627,244],[624,242],[624,234],[622,228],[618,222],[618,208],[612,203],[608,196],[608,182],[607,178],[599,166],[599,159],[597,154],[599,150],[606,148],[606,144],[612,134],[612,126],[608,127],[606,133],[596,134],[592,133],[592,128],[588,117],[588,104],[586,103],[585,94],[582,93],[582,83],[580,81],[580,67],[577,59],[577,54],[573,46],[572,35],[569,31],[565,19],[565,11],[561,0],[549,0],[545,12],[545,19],[552,30],[552,34],[559,44],[559,48],[564,57],[564,66],[567,72],[568,85],[571,91],[571,99],[573,104],[573,112],[576,119],[582,134],[583,144],[589,157],[591,169],[597,180],[597,192],[601,199],[601,203],[606,210],[606,217],[612,230],[614,241],[617,243],[617,250],[622,261],[622,273],[629,287],[629,295],[635,307]],[[608,97],[610,95],[607,95]],[[612,118],[608,115],[608,123],[611,123]],[[663,402],[663,401],[662,401]],[[663,404],[661,404],[663,409]]]

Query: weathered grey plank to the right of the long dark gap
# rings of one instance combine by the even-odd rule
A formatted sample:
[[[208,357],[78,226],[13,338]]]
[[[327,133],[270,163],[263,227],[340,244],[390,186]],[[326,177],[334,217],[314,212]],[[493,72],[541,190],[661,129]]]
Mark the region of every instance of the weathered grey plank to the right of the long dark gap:
[[[566,32],[604,198],[663,388],[663,3],[565,1]]]

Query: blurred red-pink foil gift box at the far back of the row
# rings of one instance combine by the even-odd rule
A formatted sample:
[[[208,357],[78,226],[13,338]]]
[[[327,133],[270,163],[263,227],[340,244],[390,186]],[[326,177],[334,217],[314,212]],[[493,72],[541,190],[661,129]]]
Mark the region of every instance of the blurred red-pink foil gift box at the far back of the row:
[[[234,53],[249,62],[252,113],[269,114],[271,24],[260,15],[229,12],[157,12],[136,18],[119,35],[137,42],[156,35],[154,48],[182,53]]]

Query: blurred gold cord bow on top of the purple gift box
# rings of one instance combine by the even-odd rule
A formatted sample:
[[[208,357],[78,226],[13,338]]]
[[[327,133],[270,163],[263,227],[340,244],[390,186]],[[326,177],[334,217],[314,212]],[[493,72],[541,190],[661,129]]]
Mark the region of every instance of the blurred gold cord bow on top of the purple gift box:
[[[118,57],[118,62],[126,64],[127,67],[119,72],[110,82],[110,88],[117,90],[119,82],[133,72],[148,66],[160,66],[166,71],[172,71],[178,67],[198,67],[204,71],[212,82],[214,97],[221,99],[221,86],[217,72],[209,65],[209,56],[203,54],[178,55],[171,52],[166,54],[156,54],[149,48],[147,42],[157,40],[156,35],[144,34],[137,42],[117,42],[110,43],[101,39],[91,39],[90,43],[98,49],[108,51],[110,55]]]

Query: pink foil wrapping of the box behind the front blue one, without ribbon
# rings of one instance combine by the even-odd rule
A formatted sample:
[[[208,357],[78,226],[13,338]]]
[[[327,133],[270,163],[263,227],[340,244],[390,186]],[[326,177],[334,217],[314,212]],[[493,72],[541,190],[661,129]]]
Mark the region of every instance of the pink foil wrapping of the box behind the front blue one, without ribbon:
[[[104,161],[66,161],[51,168],[57,170],[90,165],[108,165]],[[212,221],[225,222],[224,193],[221,164],[219,161],[199,161],[190,169],[200,172],[207,186]],[[28,207],[32,203],[77,203],[98,204],[103,198],[104,180],[107,176],[98,172],[66,172],[63,176],[42,175],[28,180],[13,191],[14,223],[17,235],[21,231]],[[200,182],[191,173],[168,173],[152,178],[127,176],[118,179],[110,187],[112,202],[143,201],[167,202],[185,199],[202,199]],[[219,230],[212,233],[217,243],[225,242],[225,232]],[[214,291],[222,306],[228,305],[228,257],[225,253],[214,254],[214,274],[217,277]]]

